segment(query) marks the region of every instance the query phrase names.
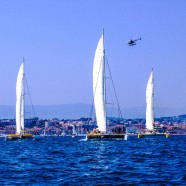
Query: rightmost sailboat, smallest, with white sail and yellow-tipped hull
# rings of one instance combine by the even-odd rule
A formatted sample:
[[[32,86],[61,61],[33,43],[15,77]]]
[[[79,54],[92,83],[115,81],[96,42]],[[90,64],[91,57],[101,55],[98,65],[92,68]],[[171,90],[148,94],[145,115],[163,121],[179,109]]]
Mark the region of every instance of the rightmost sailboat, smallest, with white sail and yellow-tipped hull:
[[[146,86],[146,132],[138,134],[138,138],[144,136],[169,136],[167,133],[160,133],[154,127],[154,72],[150,73]]]

